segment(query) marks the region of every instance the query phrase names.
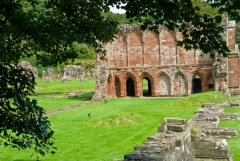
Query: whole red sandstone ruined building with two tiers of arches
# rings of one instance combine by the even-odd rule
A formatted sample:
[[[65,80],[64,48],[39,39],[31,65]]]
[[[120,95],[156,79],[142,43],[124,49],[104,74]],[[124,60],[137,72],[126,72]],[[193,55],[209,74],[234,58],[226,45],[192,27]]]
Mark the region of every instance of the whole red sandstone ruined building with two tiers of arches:
[[[236,58],[228,61],[236,64],[234,25],[229,25],[226,35],[228,46]],[[177,46],[180,39],[182,35],[179,32],[164,27],[157,35],[153,31],[141,31],[136,25],[120,26],[114,41],[105,46],[107,60],[97,60],[94,99],[226,91],[227,60],[216,62],[201,51],[186,51]],[[238,85],[239,76],[234,74],[235,77],[237,83],[232,82]],[[146,91],[143,91],[143,80],[148,84]]]

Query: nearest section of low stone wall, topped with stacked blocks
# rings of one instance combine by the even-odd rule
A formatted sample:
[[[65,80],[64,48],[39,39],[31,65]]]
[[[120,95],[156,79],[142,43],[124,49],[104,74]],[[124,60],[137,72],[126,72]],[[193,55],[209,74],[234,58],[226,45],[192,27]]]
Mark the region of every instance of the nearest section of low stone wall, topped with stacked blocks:
[[[166,118],[158,133],[124,156],[124,161],[193,161],[191,132],[187,121]]]

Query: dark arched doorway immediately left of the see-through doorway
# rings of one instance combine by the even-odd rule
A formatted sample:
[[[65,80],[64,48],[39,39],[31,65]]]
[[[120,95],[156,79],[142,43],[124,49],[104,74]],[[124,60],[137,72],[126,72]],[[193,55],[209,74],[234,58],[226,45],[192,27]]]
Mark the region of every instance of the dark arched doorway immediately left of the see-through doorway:
[[[136,77],[132,74],[127,72],[125,75],[125,95],[126,96],[136,96],[137,94],[137,81]]]

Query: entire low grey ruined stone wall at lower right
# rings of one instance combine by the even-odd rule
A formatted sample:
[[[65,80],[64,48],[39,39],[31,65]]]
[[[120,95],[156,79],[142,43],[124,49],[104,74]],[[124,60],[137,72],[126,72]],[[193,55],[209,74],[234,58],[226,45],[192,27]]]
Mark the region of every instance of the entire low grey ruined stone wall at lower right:
[[[165,118],[158,133],[124,155],[124,161],[233,161],[226,138],[238,136],[235,128],[218,128],[220,120],[239,120],[224,113],[229,105],[204,104],[189,120]]]

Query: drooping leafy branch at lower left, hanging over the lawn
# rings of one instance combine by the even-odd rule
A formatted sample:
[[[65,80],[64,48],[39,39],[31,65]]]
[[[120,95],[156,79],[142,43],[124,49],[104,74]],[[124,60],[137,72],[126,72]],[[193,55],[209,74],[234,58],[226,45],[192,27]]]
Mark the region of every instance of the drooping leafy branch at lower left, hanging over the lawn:
[[[0,136],[5,146],[32,148],[44,156],[55,153],[53,131],[45,110],[28,98],[34,86],[30,71],[0,64]]]

